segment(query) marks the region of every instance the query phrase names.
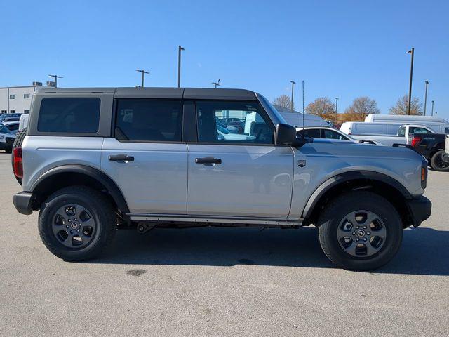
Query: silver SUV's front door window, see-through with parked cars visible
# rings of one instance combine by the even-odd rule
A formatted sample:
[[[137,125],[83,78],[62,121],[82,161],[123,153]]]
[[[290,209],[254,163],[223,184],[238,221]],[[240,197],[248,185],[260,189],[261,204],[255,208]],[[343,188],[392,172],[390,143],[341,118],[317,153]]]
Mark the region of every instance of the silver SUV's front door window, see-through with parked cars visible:
[[[274,143],[274,129],[257,102],[199,101],[196,113],[200,142]]]

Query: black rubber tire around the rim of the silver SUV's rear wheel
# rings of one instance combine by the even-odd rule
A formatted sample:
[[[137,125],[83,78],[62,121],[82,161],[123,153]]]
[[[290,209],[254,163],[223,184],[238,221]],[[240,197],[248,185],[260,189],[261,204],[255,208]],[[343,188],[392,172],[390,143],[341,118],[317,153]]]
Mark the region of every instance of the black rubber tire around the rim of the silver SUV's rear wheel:
[[[58,234],[53,232],[54,219],[55,217],[59,218],[57,213],[60,212],[58,212],[58,210],[71,204],[76,205],[76,207],[79,205],[80,208],[86,209],[89,213],[88,215],[94,220],[95,227],[91,232],[90,241],[86,246],[73,245],[72,247],[69,247],[65,245],[69,240],[61,239],[63,232],[67,233],[67,237],[71,235],[68,234],[71,227],[69,227],[68,230],[65,230],[66,223],[67,225],[74,224],[69,223],[68,218],[65,219],[67,222],[62,223],[62,227],[60,227],[62,228],[61,232]],[[74,218],[74,220],[77,219]],[[78,223],[81,224],[81,216]],[[111,244],[117,229],[114,209],[109,201],[101,192],[84,186],[65,187],[51,194],[51,196],[46,199],[41,212],[39,213],[38,226],[42,242],[47,249],[55,256],[58,256],[58,258],[67,261],[83,261],[96,258],[107,248],[107,246],[109,246],[109,244]],[[76,233],[74,235],[76,235]],[[70,241],[76,242],[75,237]],[[65,242],[65,244],[62,242]]]

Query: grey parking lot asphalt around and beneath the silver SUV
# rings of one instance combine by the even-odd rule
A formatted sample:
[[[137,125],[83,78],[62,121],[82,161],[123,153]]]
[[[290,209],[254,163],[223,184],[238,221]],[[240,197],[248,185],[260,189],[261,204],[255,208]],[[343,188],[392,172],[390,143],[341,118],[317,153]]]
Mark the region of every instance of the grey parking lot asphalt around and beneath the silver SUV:
[[[0,152],[0,336],[448,336],[449,173],[431,218],[375,272],[334,267],[316,228],[119,231],[88,263],[49,253]]]

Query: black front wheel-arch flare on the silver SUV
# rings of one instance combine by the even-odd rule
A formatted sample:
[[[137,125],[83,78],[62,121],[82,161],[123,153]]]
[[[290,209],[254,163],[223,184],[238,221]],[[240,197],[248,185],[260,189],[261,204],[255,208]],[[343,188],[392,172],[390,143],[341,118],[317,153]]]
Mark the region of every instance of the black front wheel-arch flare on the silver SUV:
[[[344,183],[349,180],[358,180],[358,179],[368,179],[368,180],[377,180],[382,183],[387,183],[394,187],[398,192],[400,192],[404,199],[412,199],[412,195],[406,187],[404,187],[398,180],[391,178],[383,173],[378,173],[375,171],[349,171],[340,173],[337,176],[333,176],[329,178],[324,183],[322,183],[310,196],[309,201],[307,201],[306,206],[304,207],[304,211],[302,211],[302,218],[308,218],[311,216],[314,207],[318,203],[318,201],[323,197],[323,195],[328,192],[332,187],[339,185],[340,183]]]

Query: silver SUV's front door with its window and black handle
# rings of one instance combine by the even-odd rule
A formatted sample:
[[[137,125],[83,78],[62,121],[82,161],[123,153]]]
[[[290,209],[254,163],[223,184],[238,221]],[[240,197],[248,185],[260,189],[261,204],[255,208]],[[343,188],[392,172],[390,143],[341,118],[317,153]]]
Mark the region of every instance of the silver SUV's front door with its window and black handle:
[[[197,101],[196,116],[199,143],[188,145],[187,213],[287,218],[293,150],[274,145],[274,126],[259,103]]]

